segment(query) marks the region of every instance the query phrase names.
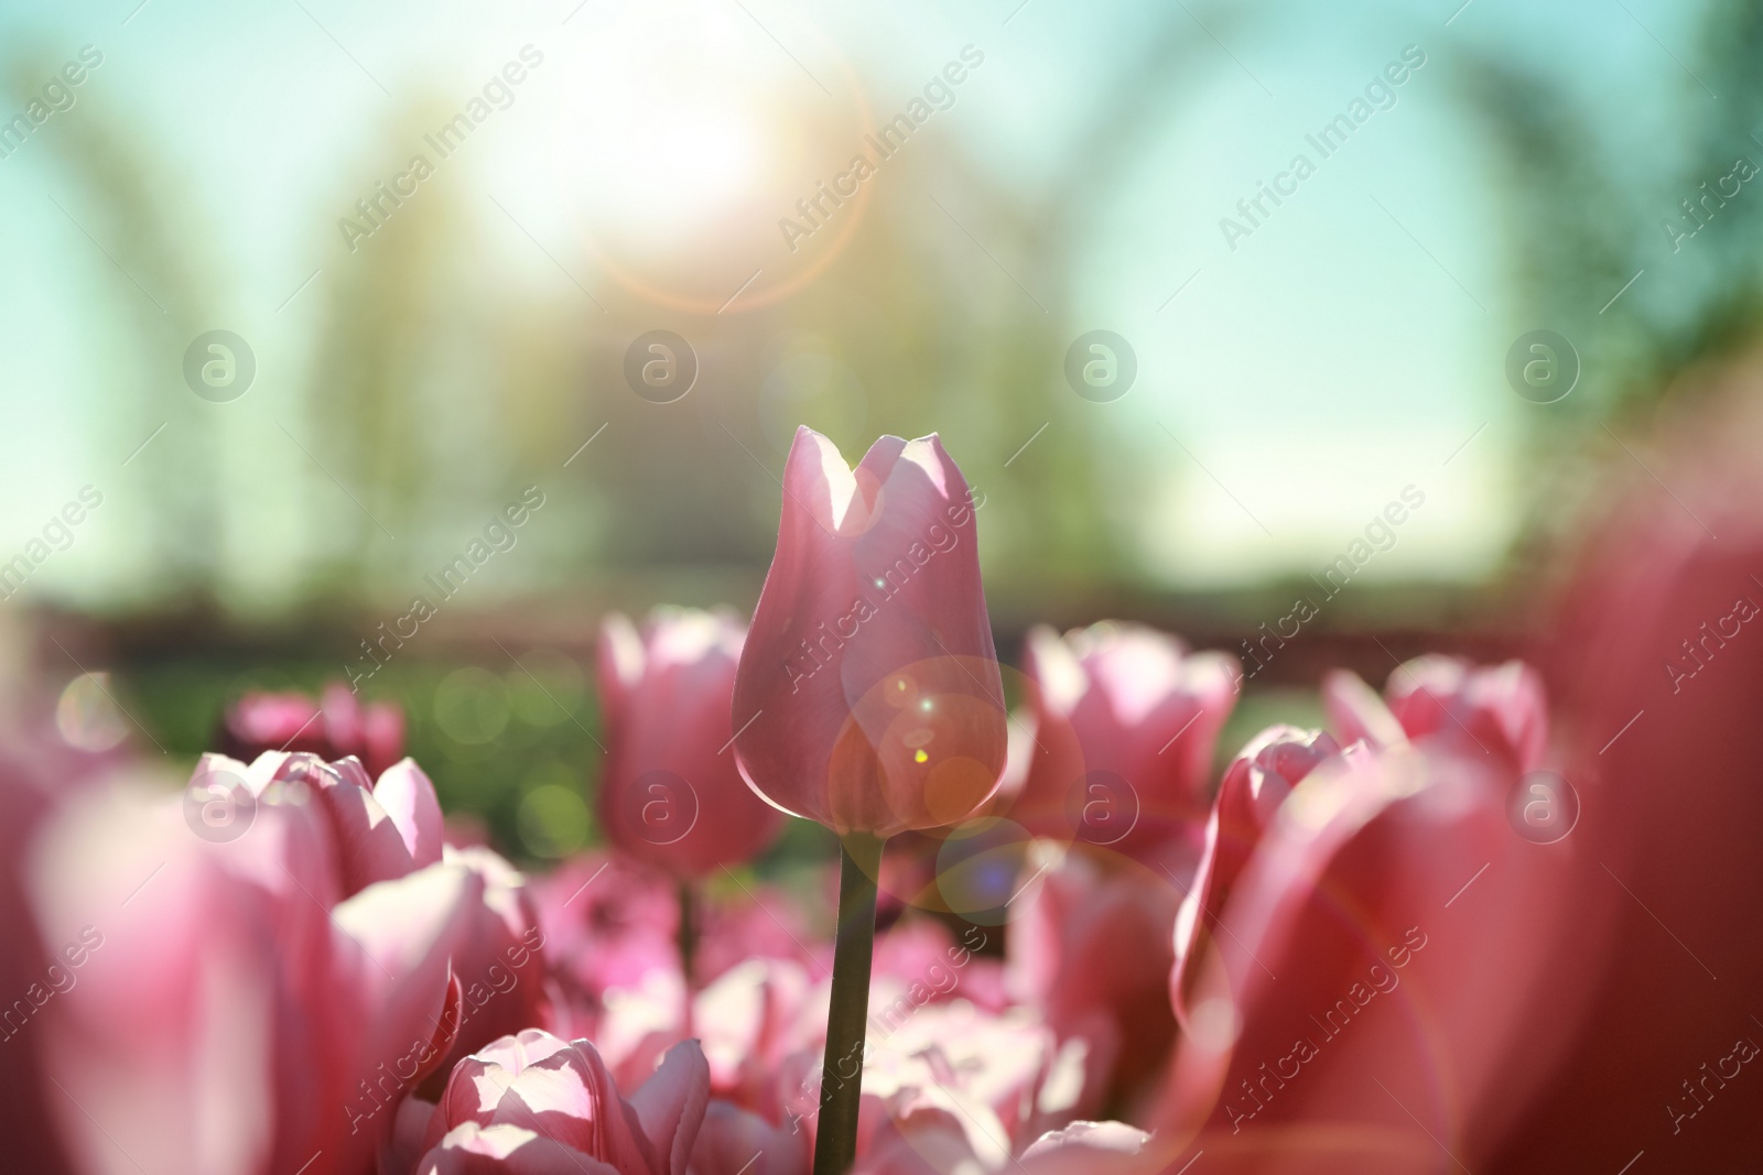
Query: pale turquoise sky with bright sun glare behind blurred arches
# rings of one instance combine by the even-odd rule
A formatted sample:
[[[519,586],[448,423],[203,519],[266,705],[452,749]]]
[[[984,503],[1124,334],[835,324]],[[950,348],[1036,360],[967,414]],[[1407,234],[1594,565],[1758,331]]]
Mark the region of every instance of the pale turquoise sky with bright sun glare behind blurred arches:
[[[1513,395],[1502,365],[1537,324],[1516,317],[1499,187],[1453,90],[1453,60],[1469,46],[1525,55],[1608,113],[1618,150],[1625,139],[1659,150],[1663,95],[1682,100],[1678,58],[1692,56],[1685,9],[1185,7],[1195,44],[1181,65],[1192,76],[1172,81],[1178,115],[1090,210],[1077,248],[1077,317],[1125,336],[1139,366],[1127,396],[1086,407],[1098,442],[1149,470],[1142,499],[1112,504],[1120,525],[1157,581],[1231,587],[1317,569],[1412,488],[1425,506],[1366,574],[1488,573],[1518,521],[1520,442],[1527,412],[1539,410]],[[1165,12],[1056,0],[4,0],[0,48],[41,46],[58,63],[92,46],[102,63],[71,109],[0,160],[0,558],[92,484],[115,506],[92,511],[32,594],[104,599],[127,592],[141,560],[129,458],[143,439],[116,426],[120,373],[99,326],[115,314],[97,314],[118,296],[106,273],[115,248],[81,225],[86,210],[42,141],[81,106],[136,115],[139,146],[180,178],[183,215],[224,291],[224,324],[256,349],[259,382],[238,412],[217,416],[213,460],[224,491],[261,502],[229,558],[270,580],[284,557],[275,484],[300,476],[303,458],[245,458],[231,442],[294,407],[319,305],[301,294],[351,262],[337,222],[353,197],[404,171],[404,151],[386,141],[400,100],[420,93],[462,109],[531,46],[541,63],[511,86],[511,104],[421,183],[453,185],[488,210],[488,273],[592,292],[608,278],[589,250],[559,262],[531,243],[569,240],[584,206],[608,231],[659,238],[705,203],[739,201],[767,167],[797,167],[790,181],[807,190],[825,173],[792,155],[790,139],[822,95],[834,109],[885,116],[964,46],[984,53],[984,67],[929,134],[996,174],[1040,183],[1091,125],[1097,79],[1121,69]],[[1322,159],[1306,134],[1403,55],[1395,104]],[[5,102],[0,118],[21,109],[18,86]],[[1278,206],[1264,203],[1271,213],[1252,231],[1227,233],[1222,220],[1246,222],[1238,201],[1298,153],[1315,173]],[[591,180],[594,201],[569,196]],[[658,190],[677,199],[658,201]],[[971,261],[1000,264],[980,252]],[[127,312],[150,314],[150,301],[143,289]]]

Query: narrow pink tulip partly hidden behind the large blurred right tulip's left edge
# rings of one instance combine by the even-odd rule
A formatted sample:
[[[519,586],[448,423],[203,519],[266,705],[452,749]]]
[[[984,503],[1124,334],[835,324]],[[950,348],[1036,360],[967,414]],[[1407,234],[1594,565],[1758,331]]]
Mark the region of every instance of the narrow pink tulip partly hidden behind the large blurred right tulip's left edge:
[[[1218,930],[1218,913],[1229,904],[1238,876],[1292,787],[1336,754],[1340,743],[1322,731],[1271,726],[1225,768],[1206,823],[1206,851],[1176,914],[1176,969],[1169,976],[1169,994],[1183,1025],[1188,1024],[1192,960],[1204,937]]]

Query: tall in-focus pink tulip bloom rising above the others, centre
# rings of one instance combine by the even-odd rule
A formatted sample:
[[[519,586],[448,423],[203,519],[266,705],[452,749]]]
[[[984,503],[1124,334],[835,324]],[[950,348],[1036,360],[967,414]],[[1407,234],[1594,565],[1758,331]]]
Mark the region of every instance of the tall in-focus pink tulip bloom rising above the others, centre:
[[[998,784],[1003,684],[975,504],[934,435],[857,469],[800,428],[777,553],[735,675],[740,770],[837,833],[954,824]]]

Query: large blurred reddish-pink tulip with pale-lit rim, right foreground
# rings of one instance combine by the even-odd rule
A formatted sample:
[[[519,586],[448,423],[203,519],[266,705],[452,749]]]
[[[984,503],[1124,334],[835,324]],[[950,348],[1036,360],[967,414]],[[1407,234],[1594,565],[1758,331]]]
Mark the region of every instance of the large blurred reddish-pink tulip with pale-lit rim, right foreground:
[[[1544,735],[1539,694],[1506,715],[1479,736]],[[1536,1083],[1520,1059],[1558,1043],[1532,1013],[1574,914],[1573,846],[1514,831],[1506,749],[1435,726],[1324,759],[1278,805],[1176,979],[1188,1031],[1158,1140],[1186,1149],[1165,1159],[1410,1171],[1486,1157]]]

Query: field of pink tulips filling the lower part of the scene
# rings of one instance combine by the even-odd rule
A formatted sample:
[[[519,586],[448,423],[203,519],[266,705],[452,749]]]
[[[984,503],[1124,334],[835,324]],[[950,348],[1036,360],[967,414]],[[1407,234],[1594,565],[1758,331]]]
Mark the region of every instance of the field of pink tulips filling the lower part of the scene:
[[[1038,629],[1005,703],[964,502],[934,435],[846,467],[804,428],[751,624],[603,622],[606,847],[552,868],[450,830],[398,708],[340,685],[240,698],[182,793],[21,743],[4,1018],[48,1103],[32,1170],[1529,1170],[1574,1131],[1645,1138],[1590,1068],[1645,1048],[1638,1018],[1707,1024],[1722,1089],[1756,1053],[1763,955],[1696,891],[1754,884],[1756,805],[1717,789],[1763,654],[1714,629],[1694,671],[1634,661],[1722,592],[1742,611],[1758,548],[1641,488],[1530,661],[1333,671],[1324,728],[1213,779],[1243,671],[1178,636]],[[1733,544],[1758,502],[1698,504]],[[920,574],[809,627],[896,553]],[[1677,705],[1691,673],[1707,698]],[[788,819],[843,877],[749,872]],[[1714,1110],[1692,1076],[1673,1134]]]

